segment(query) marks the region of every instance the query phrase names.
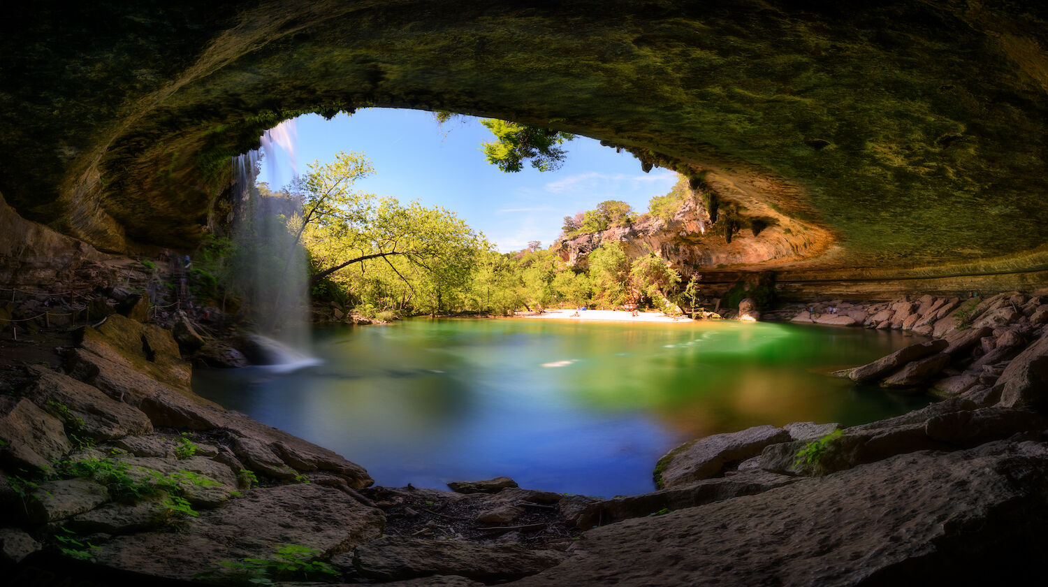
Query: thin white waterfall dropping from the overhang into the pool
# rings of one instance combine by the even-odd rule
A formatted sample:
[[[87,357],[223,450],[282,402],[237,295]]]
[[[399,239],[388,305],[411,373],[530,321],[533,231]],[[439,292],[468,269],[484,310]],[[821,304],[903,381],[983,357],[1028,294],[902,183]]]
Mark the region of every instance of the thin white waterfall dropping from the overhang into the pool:
[[[259,339],[256,346],[268,361],[287,370],[314,364],[309,360],[309,296],[306,255],[296,240],[302,201],[278,193],[275,186],[280,152],[294,171],[294,123],[267,130],[259,150],[233,157],[236,180],[234,238],[238,245],[237,281],[245,297],[244,310]],[[270,192],[256,186],[265,159]]]

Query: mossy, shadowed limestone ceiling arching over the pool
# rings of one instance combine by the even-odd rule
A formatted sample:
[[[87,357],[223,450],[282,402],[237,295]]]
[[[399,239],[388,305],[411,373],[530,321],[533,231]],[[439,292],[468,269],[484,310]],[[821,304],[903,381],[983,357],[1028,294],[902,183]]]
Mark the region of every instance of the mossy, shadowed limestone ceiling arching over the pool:
[[[0,25],[0,194],[103,249],[190,246],[261,130],[392,106],[706,171],[811,231],[794,267],[1028,259],[1048,236],[1041,3],[521,4],[36,4]]]

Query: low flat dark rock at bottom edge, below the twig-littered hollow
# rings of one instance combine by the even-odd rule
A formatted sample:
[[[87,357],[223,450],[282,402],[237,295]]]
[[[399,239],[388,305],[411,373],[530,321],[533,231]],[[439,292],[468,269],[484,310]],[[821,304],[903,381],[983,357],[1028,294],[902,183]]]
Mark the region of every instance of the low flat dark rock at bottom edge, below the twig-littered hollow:
[[[565,558],[561,552],[531,550],[521,544],[387,537],[358,546],[353,566],[362,575],[383,582],[454,574],[495,583],[538,573]]]

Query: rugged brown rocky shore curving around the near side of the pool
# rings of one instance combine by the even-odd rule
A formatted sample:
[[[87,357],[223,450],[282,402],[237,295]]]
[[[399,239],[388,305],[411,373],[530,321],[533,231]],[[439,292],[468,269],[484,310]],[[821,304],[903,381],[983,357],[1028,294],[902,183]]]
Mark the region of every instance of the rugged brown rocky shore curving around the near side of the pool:
[[[38,550],[204,583],[1033,577],[1048,522],[1048,305],[1019,292],[927,298],[795,318],[930,334],[846,374],[892,386],[905,372],[897,388],[946,399],[843,430],[801,422],[699,439],[659,461],[658,491],[612,499],[509,480],[466,493],[372,487],[331,451],[196,396],[172,331],[112,314],[78,330],[61,370],[26,367],[25,385],[0,394],[0,566],[15,585],[47,584],[30,564]]]

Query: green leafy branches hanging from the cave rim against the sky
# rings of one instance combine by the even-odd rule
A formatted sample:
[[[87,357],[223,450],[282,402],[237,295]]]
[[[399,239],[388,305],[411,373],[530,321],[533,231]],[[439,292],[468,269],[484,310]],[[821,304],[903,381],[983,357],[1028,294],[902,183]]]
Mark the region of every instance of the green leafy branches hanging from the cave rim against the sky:
[[[496,138],[492,143],[481,144],[484,156],[487,162],[498,166],[504,173],[521,171],[527,159],[539,171],[560,169],[567,153],[559,145],[574,138],[571,133],[498,118],[482,118],[480,124],[492,131]]]

